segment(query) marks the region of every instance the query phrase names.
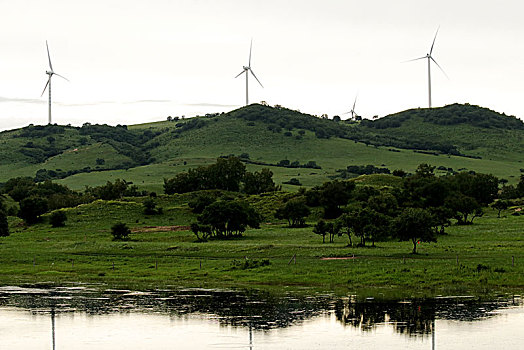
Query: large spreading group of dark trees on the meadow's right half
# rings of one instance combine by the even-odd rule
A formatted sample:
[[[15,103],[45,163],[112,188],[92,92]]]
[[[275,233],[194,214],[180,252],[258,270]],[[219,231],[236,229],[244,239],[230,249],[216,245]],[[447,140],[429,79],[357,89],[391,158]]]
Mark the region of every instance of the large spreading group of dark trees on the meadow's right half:
[[[335,180],[297,197],[279,208],[275,216],[300,226],[309,209],[321,207],[324,219],[313,232],[325,242],[345,235],[358,245],[388,239],[409,240],[416,252],[420,242],[435,241],[445,233],[451,219],[472,224],[499,194],[499,181],[493,175],[468,172],[437,177],[435,167],[421,164],[414,175],[405,177],[400,188],[355,187],[354,182]],[[524,176],[515,191],[524,190]],[[524,196],[524,192],[518,192]]]

